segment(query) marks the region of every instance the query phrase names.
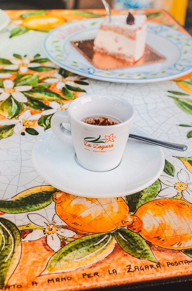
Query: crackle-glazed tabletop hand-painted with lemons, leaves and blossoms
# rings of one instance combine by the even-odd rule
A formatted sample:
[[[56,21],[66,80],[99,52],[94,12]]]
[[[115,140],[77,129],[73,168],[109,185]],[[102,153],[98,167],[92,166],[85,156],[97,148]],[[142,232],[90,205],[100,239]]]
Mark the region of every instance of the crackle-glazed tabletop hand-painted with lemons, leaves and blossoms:
[[[187,33],[164,12],[143,12]],[[7,13],[12,22],[0,32],[0,288],[87,290],[191,275],[192,75],[141,84],[82,78],[47,59],[44,38],[103,10]],[[52,114],[86,93],[129,100],[135,128],[188,150],[163,149],[161,177],[127,197],[79,197],[47,185],[33,168],[32,147]]]

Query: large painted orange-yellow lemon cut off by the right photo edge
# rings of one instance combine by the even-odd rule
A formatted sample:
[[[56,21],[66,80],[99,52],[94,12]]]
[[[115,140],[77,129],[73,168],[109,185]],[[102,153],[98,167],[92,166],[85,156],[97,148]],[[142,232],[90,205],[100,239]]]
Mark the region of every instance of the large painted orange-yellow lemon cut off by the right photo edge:
[[[134,215],[129,214],[124,225],[163,248],[192,248],[192,204],[187,201],[168,198],[149,201]]]

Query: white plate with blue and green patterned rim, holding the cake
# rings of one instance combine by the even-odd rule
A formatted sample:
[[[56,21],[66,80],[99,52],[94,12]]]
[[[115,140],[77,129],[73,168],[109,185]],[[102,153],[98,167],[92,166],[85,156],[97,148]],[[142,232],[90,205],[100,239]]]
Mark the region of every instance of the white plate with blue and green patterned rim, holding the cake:
[[[192,38],[170,27],[148,22],[147,44],[166,57],[159,65],[101,70],[72,47],[72,40],[94,38],[102,18],[74,21],[48,33],[44,51],[53,63],[76,74],[121,83],[147,83],[181,77],[192,71]]]

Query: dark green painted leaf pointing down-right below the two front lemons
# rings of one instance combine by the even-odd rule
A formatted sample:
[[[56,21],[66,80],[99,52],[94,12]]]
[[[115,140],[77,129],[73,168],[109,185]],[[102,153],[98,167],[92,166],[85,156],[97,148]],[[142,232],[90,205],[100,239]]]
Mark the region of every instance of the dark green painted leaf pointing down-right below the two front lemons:
[[[120,247],[129,255],[158,263],[150,247],[138,233],[129,229],[117,228],[114,234]]]

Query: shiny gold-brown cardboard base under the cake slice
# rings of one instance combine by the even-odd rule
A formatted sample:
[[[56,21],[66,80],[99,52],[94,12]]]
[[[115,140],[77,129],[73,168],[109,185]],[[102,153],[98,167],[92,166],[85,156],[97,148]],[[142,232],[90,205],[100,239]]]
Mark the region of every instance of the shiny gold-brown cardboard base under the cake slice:
[[[129,61],[125,61],[121,56],[109,55],[105,52],[101,52],[94,49],[94,38],[71,41],[72,46],[83,55],[91,65],[102,70],[115,70],[120,68],[141,66],[141,65],[151,65],[155,63],[161,63],[166,60],[166,58],[160,54],[155,49],[152,49],[146,45],[143,57],[133,63],[133,59],[130,58]]]

